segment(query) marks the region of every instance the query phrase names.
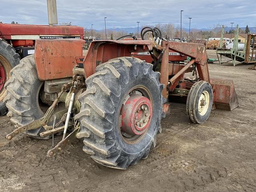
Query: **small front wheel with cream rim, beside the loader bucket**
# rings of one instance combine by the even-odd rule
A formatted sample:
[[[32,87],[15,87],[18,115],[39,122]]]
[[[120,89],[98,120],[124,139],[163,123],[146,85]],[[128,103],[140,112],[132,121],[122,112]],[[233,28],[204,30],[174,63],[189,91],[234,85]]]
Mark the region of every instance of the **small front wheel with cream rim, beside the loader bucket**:
[[[198,124],[206,122],[212,110],[212,102],[212,86],[206,81],[194,83],[186,102],[186,111],[190,120]]]

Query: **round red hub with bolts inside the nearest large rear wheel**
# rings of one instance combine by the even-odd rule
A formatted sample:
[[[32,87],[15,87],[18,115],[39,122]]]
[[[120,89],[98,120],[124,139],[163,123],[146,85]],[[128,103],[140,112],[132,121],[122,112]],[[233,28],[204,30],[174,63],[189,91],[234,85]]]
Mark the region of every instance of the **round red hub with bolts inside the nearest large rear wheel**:
[[[141,135],[150,125],[151,102],[140,94],[131,94],[122,106],[120,115],[122,132],[129,135]]]

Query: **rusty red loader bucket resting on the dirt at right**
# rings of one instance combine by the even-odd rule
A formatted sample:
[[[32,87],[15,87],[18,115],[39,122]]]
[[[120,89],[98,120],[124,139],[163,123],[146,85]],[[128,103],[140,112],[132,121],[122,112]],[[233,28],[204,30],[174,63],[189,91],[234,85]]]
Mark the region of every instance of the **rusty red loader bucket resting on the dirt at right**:
[[[210,84],[214,93],[214,104],[217,109],[233,110],[238,107],[238,99],[233,80],[211,78]]]

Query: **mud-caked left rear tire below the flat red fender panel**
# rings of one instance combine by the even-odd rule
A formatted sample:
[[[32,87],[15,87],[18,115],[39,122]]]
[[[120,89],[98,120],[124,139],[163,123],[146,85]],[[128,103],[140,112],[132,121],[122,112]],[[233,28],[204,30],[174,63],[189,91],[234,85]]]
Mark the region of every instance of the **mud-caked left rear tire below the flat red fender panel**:
[[[42,118],[44,113],[40,109],[38,98],[44,82],[38,79],[34,54],[20,60],[20,64],[14,67],[10,74],[11,78],[5,84],[7,116],[16,126]],[[40,127],[26,131],[26,134],[34,138],[48,139],[49,137],[39,136],[42,131],[44,128]]]

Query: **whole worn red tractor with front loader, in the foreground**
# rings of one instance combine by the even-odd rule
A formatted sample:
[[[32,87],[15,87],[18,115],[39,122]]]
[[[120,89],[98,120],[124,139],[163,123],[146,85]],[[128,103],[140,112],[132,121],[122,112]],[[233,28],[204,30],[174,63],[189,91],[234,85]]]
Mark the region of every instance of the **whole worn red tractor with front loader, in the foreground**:
[[[145,31],[152,40],[144,40]],[[95,162],[126,169],[156,146],[161,119],[170,108],[168,96],[186,97],[188,117],[198,124],[215,108],[238,106],[232,80],[210,78],[203,44],[162,40],[158,28],[143,28],[141,36],[93,41],[84,57],[84,40],[36,40],[35,53],[11,70],[5,84],[7,115],[16,124],[6,139],[22,132],[49,139],[61,132],[62,140],[48,156],[79,138]],[[191,61],[168,62],[170,50]],[[131,57],[136,52],[150,52],[155,62]],[[67,78],[71,82],[63,84]]]

